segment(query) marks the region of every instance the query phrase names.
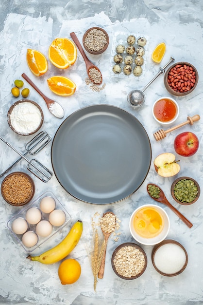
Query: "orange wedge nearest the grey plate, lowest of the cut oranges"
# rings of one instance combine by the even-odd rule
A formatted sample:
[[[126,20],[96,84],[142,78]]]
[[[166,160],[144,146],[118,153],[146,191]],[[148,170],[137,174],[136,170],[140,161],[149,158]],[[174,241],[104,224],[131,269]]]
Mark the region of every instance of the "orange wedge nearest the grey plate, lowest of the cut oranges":
[[[65,76],[52,76],[47,79],[50,90],[62,96],[72,95],[76,90],[76,84]]]

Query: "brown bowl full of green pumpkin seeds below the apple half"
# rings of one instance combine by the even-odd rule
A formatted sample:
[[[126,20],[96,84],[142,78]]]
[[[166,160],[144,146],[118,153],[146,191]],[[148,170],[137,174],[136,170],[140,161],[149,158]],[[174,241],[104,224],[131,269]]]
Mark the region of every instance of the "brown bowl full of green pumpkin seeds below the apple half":
[[[195,179],[184,176],[173,181],[170,192],[176,202],[191,205],[200,197],[200,186]]]

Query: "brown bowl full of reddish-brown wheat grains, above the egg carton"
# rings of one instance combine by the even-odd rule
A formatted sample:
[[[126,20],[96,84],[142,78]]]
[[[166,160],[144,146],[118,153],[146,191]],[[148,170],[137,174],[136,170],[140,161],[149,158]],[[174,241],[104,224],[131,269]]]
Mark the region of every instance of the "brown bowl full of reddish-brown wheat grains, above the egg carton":
[[[1,183],[3,199],[15,207],[21,207],[30,202],[34,191],[34,181],[25,172],[12,172]]]

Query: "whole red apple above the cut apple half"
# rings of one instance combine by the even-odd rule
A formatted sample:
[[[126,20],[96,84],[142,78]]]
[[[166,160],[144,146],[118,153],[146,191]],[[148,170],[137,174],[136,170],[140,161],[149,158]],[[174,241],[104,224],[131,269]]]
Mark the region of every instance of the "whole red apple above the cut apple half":
[[[183,157],[190,157],[199,148],[199,140],[196,134],[191,132],[180,133],[175,137],[174,149],[175,152]]]

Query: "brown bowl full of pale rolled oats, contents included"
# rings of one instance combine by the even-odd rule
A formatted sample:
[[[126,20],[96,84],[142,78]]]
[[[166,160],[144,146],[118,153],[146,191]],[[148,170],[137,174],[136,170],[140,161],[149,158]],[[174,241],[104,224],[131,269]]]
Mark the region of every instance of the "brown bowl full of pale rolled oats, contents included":
[[[146,270],[147,255],[137,244],[124,243],[114,250],[111,265],[121,279],[134,280]]]

